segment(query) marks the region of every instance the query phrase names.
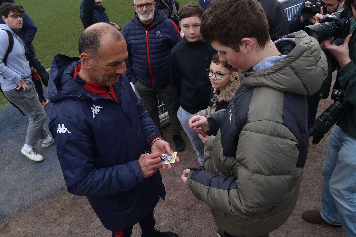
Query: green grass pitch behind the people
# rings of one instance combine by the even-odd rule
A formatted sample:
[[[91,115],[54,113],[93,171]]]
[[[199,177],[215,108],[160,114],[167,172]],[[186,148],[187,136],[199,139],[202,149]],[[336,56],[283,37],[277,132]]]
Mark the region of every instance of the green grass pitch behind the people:
[[[188,2],[197,0],[178,0],[180,8]],[[84,30],[79,17],[81,0],[16,0],[21,4],[31,19],[36,23],[38,31],[33,40],[37,58],[45,68],[51,67],[52,58],[56,54],[78,56],[78,38]],[[131,0],[103,0],[109,19],[121,27],[134,15]],[[0,93],[0,110],[10,103]]]

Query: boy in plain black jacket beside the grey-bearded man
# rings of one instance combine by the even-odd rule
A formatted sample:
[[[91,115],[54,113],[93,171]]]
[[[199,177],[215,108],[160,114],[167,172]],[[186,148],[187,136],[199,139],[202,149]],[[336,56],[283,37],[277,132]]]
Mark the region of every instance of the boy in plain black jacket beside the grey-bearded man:
[[[204,143],[188,125],[189,118],[206,109],[209,104],[210,80],[206,74],[211,57],[217,52],[200,35],[200,20],[203,8],[190,2],[179,12],[184,38],[171,51],[171,85],[174,107],[178,109],[178,119],[182,124],[197,153],[198,162],[204,163]]]

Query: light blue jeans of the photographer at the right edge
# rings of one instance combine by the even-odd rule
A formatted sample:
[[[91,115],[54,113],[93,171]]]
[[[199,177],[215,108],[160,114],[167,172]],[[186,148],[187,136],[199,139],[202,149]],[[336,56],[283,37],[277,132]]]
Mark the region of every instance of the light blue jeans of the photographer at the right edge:
[[[347,236],[356,236],[356,139],[339,126],[328,138],[321,173],[321,217],[332,225],[342,224]]]

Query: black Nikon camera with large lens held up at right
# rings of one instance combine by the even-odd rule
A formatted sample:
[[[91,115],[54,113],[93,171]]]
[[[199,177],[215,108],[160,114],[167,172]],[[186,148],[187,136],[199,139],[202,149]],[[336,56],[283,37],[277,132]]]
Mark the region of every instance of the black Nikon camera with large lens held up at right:
[[[319,25],[310,25],[303,28],[308,35],[316,38],[319,43],[326,39],[346,38],[350,32],[350,20],[346,11],[337,11],[334,15],[324,15]]]

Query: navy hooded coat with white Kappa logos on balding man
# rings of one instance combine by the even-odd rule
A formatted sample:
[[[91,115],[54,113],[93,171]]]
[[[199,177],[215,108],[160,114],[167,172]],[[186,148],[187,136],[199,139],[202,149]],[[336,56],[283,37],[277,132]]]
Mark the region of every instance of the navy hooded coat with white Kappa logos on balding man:
[[[90,86],[79,75],[73,80],[79,60],[63,55],[53,59],[49,131],[68,192],[87,196],[105,228],[122,230],[165,196],[159,171],[143,178],[138,163],[143,150],[161,135],[127,79],[120,78],[110,89],[118,103],[105,86]]]

